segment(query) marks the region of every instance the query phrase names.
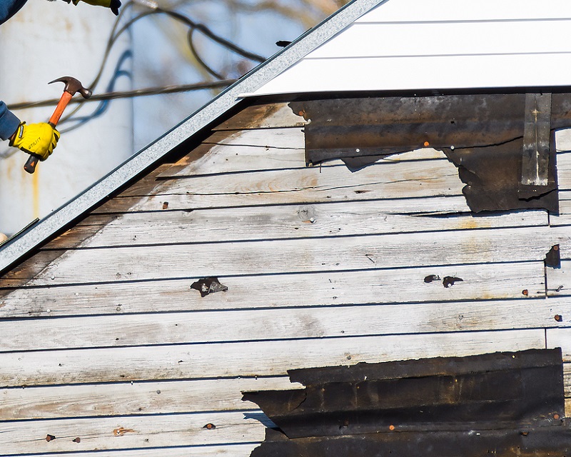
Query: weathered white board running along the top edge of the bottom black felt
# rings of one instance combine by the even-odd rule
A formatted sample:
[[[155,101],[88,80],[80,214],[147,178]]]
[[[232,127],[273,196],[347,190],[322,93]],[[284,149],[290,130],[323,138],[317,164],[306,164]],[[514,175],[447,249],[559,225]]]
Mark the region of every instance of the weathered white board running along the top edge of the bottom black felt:
[[[396,361],[403,355],[468,356],[544,347],[541,328],[0,353],[0,386],[283,376],[291,368]]]

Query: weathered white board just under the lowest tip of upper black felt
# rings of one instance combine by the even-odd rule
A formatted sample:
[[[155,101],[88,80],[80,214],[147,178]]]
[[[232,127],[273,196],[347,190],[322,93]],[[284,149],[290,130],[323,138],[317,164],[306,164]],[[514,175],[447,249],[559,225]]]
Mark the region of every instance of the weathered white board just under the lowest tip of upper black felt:
[[[91,217],[74,231],[101,225],[81,247],[131,244],[212,243],[256,239],[348,236],[361,233],[412,233],[517,226],[547,226],[545,211],[521,211],[486,217],[472,214],[449,217],[405,216],[388,201],[339,202],[196,211],[127,213],[108,218]],[[62,237],[59,248],[76,247],[73,237]]]

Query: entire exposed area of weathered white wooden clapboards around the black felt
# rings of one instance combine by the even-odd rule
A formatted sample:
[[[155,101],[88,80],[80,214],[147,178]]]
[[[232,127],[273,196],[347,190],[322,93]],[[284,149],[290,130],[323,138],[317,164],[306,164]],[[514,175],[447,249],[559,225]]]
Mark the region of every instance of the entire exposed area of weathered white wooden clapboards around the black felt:
[[[308,167],[307,128],[250,106],[1,278],[1,457],[247,457],[291,370],[546,346],[568,411],[570,211],[473,214],[430,147]]]

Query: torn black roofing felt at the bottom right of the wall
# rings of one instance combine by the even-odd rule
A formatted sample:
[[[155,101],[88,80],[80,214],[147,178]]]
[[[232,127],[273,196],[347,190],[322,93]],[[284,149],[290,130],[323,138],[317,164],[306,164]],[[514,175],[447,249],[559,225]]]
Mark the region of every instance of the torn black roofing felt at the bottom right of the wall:
[[[560,348],[289,374],[305,388],[244,393],[278,426],[253,457],[571,451]]]

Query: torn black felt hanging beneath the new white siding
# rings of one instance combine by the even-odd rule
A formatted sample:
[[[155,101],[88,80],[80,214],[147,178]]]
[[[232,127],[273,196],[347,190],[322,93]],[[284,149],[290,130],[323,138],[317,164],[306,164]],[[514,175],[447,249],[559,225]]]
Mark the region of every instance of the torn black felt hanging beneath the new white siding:
[[[290,108],[308,121],[309,164],[342,159],[356,171],[431,147],[458,167],[472,211],[558,212],[555,130],[571,127],[571,94],[377,96]]]

